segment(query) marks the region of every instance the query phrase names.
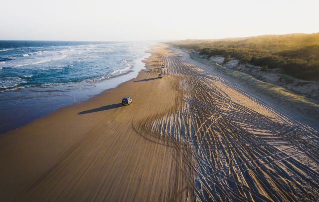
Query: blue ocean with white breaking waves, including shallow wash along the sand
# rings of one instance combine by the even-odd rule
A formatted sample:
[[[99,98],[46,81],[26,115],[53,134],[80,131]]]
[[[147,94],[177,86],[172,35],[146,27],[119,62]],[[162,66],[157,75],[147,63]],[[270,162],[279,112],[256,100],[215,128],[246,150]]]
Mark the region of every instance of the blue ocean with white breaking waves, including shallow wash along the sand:
[[[135,78],[152,44],[0,41],[0,134]]]

